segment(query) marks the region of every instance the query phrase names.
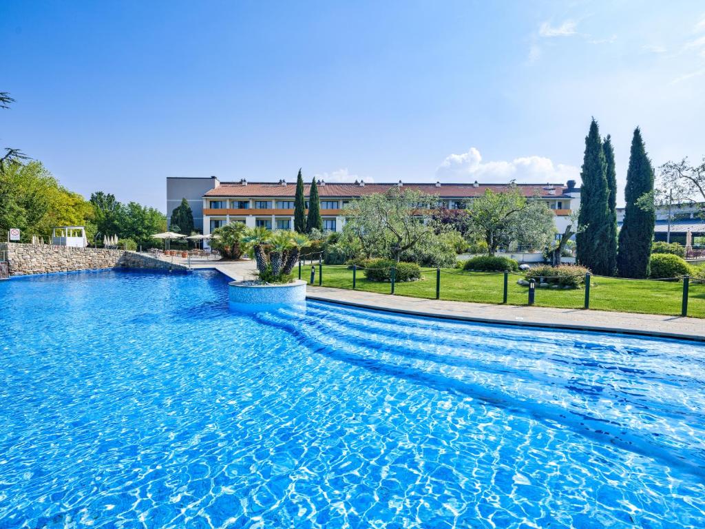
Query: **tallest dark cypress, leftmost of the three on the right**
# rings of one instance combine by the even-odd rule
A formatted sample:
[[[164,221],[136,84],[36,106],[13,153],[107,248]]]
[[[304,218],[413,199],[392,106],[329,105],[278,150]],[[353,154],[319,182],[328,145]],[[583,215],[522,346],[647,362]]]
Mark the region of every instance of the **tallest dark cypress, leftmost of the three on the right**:
[[[611,275],[604,248],[608,238],[607,164],[595,118],[585,138],[585,154],[580,178],[579,233],[575,236],[577,261],[595,274]]]

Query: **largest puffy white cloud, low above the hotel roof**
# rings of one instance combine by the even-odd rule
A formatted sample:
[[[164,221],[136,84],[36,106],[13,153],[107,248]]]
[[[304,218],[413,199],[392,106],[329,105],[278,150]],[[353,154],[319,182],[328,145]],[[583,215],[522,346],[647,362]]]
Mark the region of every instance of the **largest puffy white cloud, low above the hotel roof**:
[[[462,154],[449,154],[436,169],[441,181],[480,183],[565,183],[580,181],[580,169],[572,165],[554,164],[541,156],[515,158],[511,162],[483,162],[475,147]]]

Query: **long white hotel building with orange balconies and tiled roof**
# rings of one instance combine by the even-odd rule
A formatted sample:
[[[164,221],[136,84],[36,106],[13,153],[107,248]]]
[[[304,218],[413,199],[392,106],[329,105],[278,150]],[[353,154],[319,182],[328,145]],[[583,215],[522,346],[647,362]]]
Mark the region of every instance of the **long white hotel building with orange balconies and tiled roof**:
[[[390,188],[406,188],[436,195],[439,204],[448,209],[460,209],[467,200],[479,197],[486,189],[497,193],[509,184],[484,183],[326,183],[317,181],[324,231],[343,231],[345,208],[357,198],[384,193]],[[309,184],[304,186],[308,198]],[[575,181],[560,184],[517,184],[527,197],[537,196],[555,214],[556,229],[563,232],[570,213],[580,205],[580,188]],[[194,216],[196,229],[208,235],[220,226],[243,222],[246,226],[269,229],[293,229],[296,184],[278,182],[220,182],[218,178],[167,178],[167,216],[186,198]],[[308,207],[308,202],[306,204]]]

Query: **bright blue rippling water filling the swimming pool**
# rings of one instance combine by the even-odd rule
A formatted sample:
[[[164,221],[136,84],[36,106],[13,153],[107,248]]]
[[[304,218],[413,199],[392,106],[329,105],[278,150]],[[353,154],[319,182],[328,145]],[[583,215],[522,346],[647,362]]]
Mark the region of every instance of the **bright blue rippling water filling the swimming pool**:
[[[0,528],[702,528],[705,347],[0,282]]]

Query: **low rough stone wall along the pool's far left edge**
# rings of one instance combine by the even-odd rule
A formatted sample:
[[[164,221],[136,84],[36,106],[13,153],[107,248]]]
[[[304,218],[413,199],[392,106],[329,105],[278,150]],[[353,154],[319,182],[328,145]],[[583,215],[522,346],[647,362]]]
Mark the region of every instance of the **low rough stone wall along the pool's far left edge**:
[[[3,250],[6,250],[11,276],[104,268],[187,270],[183,265],[172,265],[155,257],[125,250],[1,243],[0,252]]]

